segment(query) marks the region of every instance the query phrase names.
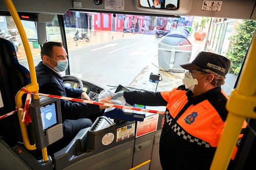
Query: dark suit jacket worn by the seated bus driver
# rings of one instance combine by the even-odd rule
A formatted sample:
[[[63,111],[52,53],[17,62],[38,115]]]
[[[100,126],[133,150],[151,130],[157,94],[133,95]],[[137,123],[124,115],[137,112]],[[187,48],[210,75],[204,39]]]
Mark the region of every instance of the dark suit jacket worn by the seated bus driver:
[[[81,96],[81,89],[65,86],[63,78],[41,61],[35,66],[35,71],[40,93],[67,96],[69,98]],[[65,119],[83,118],[100,111],[98,105],[68,100],[60,100],[60,105],[62,122]]]

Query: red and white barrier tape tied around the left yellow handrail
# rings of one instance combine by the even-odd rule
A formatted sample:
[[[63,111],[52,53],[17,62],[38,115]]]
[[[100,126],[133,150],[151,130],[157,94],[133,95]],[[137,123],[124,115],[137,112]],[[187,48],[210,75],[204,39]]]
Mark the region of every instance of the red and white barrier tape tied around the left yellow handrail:
[[[115,104],[110,104],[110,103],[101,103],[101,102],[93,102],[93,101],[87,101],[87,100],[82,100],[82,99],[68,98],[68,97],[63,97],[63,96],[59,96],[59,95],[51,95],[51,94],[44,94],[44,93],[29,92],[25,88],[20,89],[20,91],[24,91],[24,92],[29,94],[29,95],[27,95],[27,99],[26,99],[24,110],[23,110],[23,108],[19,108],[18,109],[18,110],[23,110],[24,111],[23,112],[23,122],[26,122],[26,119],[27,119],[26,116],[28,116],[28,115],[30,116],[30,114],[26,114],[26,113],[28,111],[28,106],[29,106],[29,104],[31,102],[31,94],[43,95],[43,96],[48,96],[50,98],[64,99],[64,100],[69,100],[69,101],[74,101],[74,102],[83,102],[83,103],[89,103],[89,104],[94,104],[94,105],[116,107],[116,108],[120,108],[120,109],[129,109],[129,110],[142,111],[142,112],[155,113],[155,114],[165,114],[165,112],[157,111],[157,110],[141,109],[141,108],[130,107],[130,106],[122,106],[122,105],[115,105]],[[7,114],[5,114],[3,116],[0,116],[0,119],[2,119],[4,117],[7,117],[9,115],[12,115],[16,111],[17,110],[14,110],[14,111],[12,111],[10,113],[7,113]]]

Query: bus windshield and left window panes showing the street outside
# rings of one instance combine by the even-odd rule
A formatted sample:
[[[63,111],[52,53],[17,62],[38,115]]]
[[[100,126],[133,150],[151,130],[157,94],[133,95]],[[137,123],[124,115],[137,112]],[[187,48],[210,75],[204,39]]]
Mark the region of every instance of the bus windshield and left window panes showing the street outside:
[[[12,22],[11,17],[6,18]],[[182,84],[185,70],[179,65],[206,51],[231,61],[222,86],[229,95],[255,31],[255,21],[229,18],[67,11],[63,19],[71,75],[110,89],[121,84],[150,91],[172,90]],[[23,21],[23,25],[36,66],[41,59],[35,26],[29,21]],[[48,41],[61,41],[57,16],[46,26]],[[243,38],[238,36],[241,34],[246,40],[239,39]],[[18,59],[28,68],[19,35],[16,40]]]

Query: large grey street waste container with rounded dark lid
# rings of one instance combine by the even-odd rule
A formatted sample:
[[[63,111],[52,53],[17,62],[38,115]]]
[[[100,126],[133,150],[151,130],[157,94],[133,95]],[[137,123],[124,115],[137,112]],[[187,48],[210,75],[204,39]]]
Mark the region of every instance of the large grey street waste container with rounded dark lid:
[[[192,44],[188,40],[187,29],[174,29],[166,34],[158,44],[158,65],[160,70],[185,72],[180,64],[191,58]]]

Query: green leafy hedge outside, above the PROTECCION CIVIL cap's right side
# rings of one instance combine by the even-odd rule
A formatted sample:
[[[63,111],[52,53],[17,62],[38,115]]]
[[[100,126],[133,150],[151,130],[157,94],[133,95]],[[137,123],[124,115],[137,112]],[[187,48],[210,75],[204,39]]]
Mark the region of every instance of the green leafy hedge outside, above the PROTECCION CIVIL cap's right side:
[[[229,68],[230,74],[239,74],[245,55],[255,32],[255,28],[256,21],[254,20],[243,20],[242,23],[238,25],[236,35],[232,37],[231,47],[226,52],[226,57],[231,62]]]

